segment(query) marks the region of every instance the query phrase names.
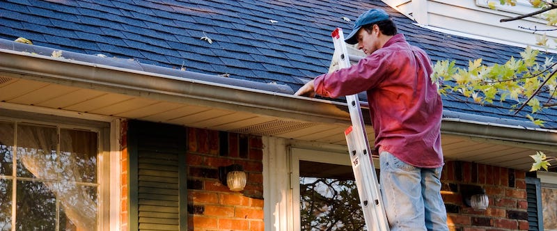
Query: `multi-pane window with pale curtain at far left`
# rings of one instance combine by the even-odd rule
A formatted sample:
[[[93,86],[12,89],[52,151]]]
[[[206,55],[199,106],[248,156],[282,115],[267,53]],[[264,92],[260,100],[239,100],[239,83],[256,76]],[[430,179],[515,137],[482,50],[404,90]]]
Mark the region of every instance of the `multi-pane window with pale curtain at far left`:
[[[99,133],[0,120],[0,230],[98,230]]]

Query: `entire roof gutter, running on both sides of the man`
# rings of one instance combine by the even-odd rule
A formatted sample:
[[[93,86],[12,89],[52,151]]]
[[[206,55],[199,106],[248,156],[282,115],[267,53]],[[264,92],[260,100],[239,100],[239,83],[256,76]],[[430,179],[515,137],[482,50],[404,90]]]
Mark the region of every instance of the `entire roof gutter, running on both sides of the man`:
[[[187,78],[188,74],[200,75],[193,72],[187,73],[185,77],[173,77],[6,49],[0,49],[0,57],[0,77],[20,78],[21,75],[25,75],[26,79],[36,81],[94,88],[170,102],[214,106],[288,120],[342,125],[350,123],[347,105],[343,102],[310,99]],[[366,111],[368,109],[365,109],[364,113],[367,113]],[[458,118],[462,115],[451,111],[444,111],[444,115],[441,125],[441,132],[444,134],[557,145],[556,130],[512,125],[513,122],[517,122],[515,120],[507,121],[506,125],[501,122],[486,122],[485,116],[470,114],[465,114],[466,119],[463,119]]]

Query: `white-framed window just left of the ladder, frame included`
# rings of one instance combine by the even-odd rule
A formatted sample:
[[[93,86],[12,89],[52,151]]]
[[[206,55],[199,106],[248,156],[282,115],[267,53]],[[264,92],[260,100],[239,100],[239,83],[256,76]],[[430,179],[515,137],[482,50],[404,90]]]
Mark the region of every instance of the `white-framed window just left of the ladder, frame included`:
[[[365,230],[347,154],[292,148],[292,188],[295,230]]]

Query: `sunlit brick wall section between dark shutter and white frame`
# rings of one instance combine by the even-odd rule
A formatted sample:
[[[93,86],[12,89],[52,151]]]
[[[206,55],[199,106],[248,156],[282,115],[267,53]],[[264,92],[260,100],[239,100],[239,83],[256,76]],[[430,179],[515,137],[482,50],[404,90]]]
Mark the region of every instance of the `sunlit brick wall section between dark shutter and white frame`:
[[[261,138],[189,128],[187,142],[189,230],[264,230]],[[231,164],[244,167],[244,191],[219,180]]]

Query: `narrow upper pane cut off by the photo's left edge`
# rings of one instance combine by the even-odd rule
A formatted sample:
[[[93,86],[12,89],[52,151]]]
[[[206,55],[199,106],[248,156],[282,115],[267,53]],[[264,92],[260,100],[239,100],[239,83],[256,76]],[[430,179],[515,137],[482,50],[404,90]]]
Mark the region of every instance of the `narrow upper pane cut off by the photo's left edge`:
[[[12,175],[13,123],[0,122],[0,175]]]

